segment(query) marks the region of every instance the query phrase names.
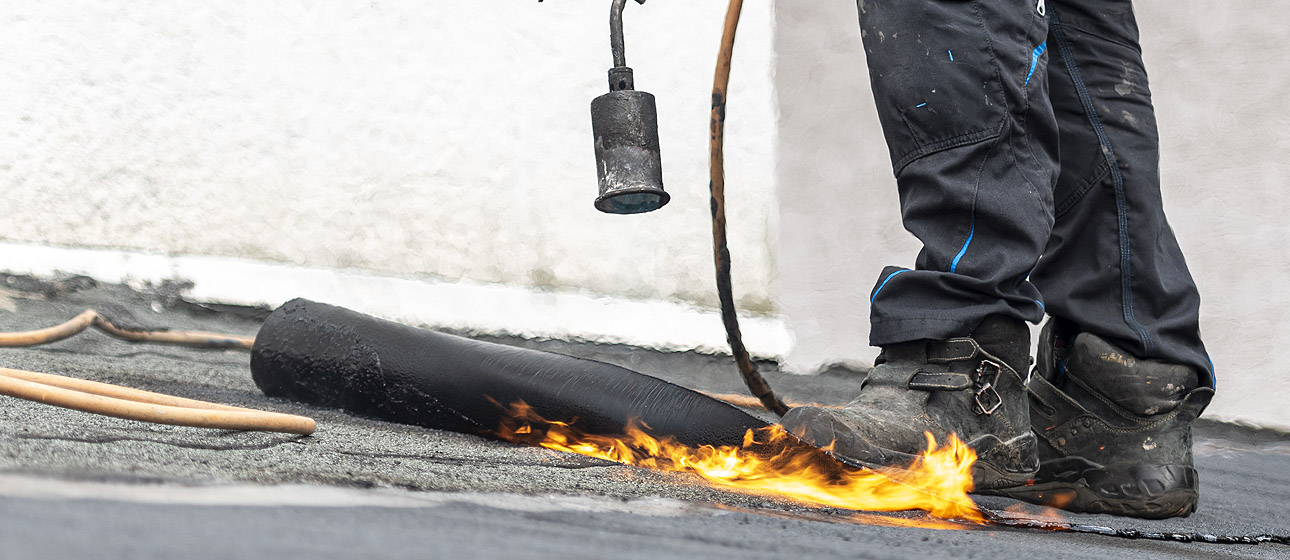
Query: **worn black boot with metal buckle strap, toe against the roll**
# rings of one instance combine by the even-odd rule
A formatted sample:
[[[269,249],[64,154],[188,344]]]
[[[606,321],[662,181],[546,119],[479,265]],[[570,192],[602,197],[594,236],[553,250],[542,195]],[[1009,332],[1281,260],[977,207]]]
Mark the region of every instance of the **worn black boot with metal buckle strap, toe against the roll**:
[[[975,449],[977,488],[1006,488],[1038,468],[1022,377],[1029,329],[989,316],[966,338],[882,347],[878,363],[844,408],[799,406],[786,430],[838,459],[866,467],[906,466],[951,434]]]

